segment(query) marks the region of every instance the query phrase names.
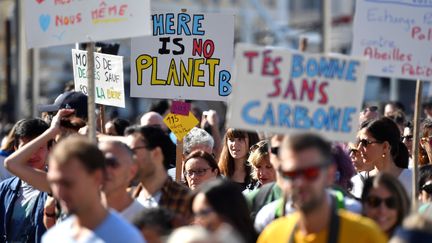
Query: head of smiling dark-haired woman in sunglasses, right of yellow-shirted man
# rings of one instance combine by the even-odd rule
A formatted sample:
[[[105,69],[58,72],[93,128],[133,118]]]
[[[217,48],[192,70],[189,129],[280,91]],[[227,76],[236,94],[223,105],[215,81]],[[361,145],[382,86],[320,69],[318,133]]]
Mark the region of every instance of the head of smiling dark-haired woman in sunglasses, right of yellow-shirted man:
[[[409,213],[410,201],[404,187],[387,173],[366,179],[361,199],[363,214],[373,219],[389,238]]]

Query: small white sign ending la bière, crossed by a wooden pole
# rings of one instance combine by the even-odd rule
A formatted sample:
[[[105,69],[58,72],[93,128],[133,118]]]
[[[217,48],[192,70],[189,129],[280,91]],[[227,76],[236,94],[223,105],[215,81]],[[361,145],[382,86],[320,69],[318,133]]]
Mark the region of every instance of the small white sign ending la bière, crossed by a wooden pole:
[[[96,104],[125,107],[123,57],[94,53]],[[87,95],[87,52],[72,50],[75,90]]]

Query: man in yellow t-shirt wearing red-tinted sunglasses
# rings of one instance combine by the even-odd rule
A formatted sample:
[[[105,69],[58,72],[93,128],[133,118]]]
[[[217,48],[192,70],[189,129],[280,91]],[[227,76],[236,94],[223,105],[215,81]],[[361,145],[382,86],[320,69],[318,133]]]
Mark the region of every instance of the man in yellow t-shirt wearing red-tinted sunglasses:
[[[335,177],[328,142],[314,134],[285,137],[278,173],[297,212],[267,226],[258,242],[386,242],[369,219],[337,209],[327,193]]]

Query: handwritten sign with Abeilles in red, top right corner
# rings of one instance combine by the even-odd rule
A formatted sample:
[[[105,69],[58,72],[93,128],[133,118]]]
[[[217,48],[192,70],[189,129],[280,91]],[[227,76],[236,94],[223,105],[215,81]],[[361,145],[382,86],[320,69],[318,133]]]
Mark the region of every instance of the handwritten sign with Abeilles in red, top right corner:
[[[367,73],[432,80],[432,1],[357,0],[353,55]]]

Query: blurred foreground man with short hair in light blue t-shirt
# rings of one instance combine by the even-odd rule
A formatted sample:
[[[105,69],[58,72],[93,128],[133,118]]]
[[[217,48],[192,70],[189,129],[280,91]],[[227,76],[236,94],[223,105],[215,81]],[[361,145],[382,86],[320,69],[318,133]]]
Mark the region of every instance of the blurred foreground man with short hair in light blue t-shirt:
[[[70,216],[52,227],[42,242],[144,242],[138,230],[104,207],[105,157],[82,136],[70,136],[50,154],[48,181]]]

